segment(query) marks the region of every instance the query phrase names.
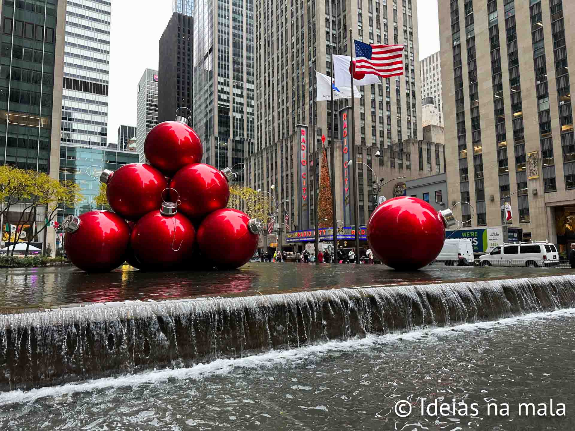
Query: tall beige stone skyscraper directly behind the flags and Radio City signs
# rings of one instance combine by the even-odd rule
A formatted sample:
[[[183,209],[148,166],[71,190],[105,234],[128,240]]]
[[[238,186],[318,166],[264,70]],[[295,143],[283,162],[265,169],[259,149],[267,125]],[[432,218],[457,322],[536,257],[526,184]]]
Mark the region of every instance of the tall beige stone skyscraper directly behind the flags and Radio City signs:
[[[415,161],[415,155],[408,154],[407,149],[418,148],[418,145],[413,147],[411,142],[403,145],[410,138],[422,138],[417,17],[412,13],[415,6],[415,0],[359,0],[351,3],[306,1],[292,4],[272,0],[256,2],[256,142],[255,156],[250,158],[254,163],[247,166],[247,184],[267,191],[274,184],[278,201],[288,201],[289,213],[298,229],[313,224],[313,220],[307,220],[307,214],[313,214],[313,188],[306,188],[306,193],[309,192],[305,198],[309,199],[308,210],[301,214],[303,220],[298,217],[301,210],[298,202],[304,187],[302,173],[298,173],[302,161],[300,153],[305,154],[300,150],[301,134],[306,134],[307,151],[312,149],[313,139],[317,148],[322,147],[322,135],[326,138],[325,146],[332,147],[331,103],[315,102],[312,66],[312,59],[316,59],[316,70],[330,74],[332,44],[333,53],[340,55],[350,55],[350,48],[354,48],[353,39],[364,43],[404,45],[405,74],[381,79],[381,84],[360,88],[362,98],[355,99],[355,130],[352,133],[351,122],[345,121],[345,133],[346,136],[349,133],[355,137],[356,146],[361,147],[358,148],[358,156],[365,155],[369,163],[371,157],[375,157],[375,152],[380,151],[381,155],[385,155],[378,161],[378,165],[385,163],[385,172],[401,172],[408,166],[411,168],[411,159],[407,157],[413,156]],[[415,67],[416,64],[418,67]],[[350,199],[348,191],[344,192],[343,180],[339,182],[345,174],[342,174],[342,164],[339,163],[342,156],[338,153],[343,151],[341,138],[344,124],[339,113],[348,104],[349,101],[336,101],[333,113],[336,119],[333,147],[336,155],[339,155],[335,175],[338,181],[338,208],[342,208],[344,202]],[[312,120],[312,106],[315,120]],[[351,118],[351,111],[345,114],[346,120]],[[312,124],[316,125],[315,132],[312,131]],[[428,155],[431,170],[431,149]],[[311,182],[313,179],[317,183],[317,178],[313,178],[313,171],[309,169],[313,160],[311,157],[308,153],[306,166],[309,176],[306,175],[306,180]],[[313,163],[317,172],[320,171],[319,158],[316,156]],[[423,156],[420,156],[420,160],[423,160]],[[358,169],[357,173],[360,185],[359,222],[365,224],[374,209],[374,201],[371,188],[367,185],[364,188],[364,184],[373,179],[369,170]]]

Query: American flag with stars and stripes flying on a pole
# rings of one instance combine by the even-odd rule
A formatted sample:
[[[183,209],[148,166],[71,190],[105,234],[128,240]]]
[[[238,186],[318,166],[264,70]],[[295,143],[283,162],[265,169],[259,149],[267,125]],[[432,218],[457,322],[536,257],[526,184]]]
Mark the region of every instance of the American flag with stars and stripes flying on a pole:
[[[403,75],[403,49],[403,45],[368,45],[355,40],[355,71],[384,78]]]

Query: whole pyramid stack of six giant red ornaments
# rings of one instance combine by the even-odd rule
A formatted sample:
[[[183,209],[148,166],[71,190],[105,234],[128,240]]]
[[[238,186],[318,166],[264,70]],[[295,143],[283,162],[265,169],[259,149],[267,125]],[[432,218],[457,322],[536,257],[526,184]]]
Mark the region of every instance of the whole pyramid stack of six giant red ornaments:
[[[128,261],[145,271],[232,269],[258,247],[260,221],[228,209],[229,168],[200,163],[202,143],[185,117],[156,125],[145,139],[149,164],[105,170],[113,211],[69,216],[68,259],[86,272]]]

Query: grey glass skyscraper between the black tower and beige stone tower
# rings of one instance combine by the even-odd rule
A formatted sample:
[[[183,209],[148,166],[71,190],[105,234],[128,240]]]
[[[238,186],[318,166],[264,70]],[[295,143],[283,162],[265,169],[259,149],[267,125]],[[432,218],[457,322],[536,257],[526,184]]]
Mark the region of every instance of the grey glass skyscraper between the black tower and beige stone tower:
[[[193,126],[205,163],[223,169],[244,163],[254,148],[254,0],[194,7]]]

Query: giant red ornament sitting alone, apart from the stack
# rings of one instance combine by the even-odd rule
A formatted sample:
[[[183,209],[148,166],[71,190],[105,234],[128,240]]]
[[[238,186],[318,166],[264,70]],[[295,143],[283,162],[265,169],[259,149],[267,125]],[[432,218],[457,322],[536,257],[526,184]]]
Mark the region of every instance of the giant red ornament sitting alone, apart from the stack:
[[[382,263],[396,270],[417,270],[439,255],[445,229],[455,224],[451,210],[437,211],[412,197],[379,205],[367,223],[367,242]]]

